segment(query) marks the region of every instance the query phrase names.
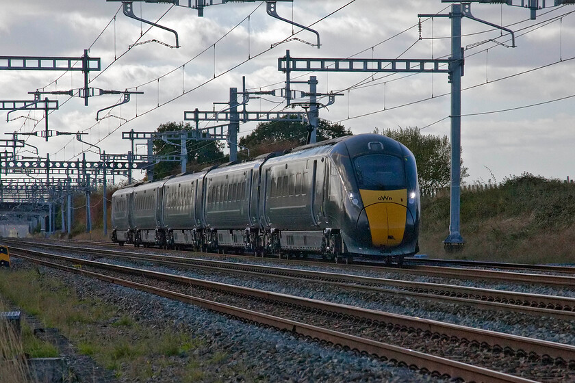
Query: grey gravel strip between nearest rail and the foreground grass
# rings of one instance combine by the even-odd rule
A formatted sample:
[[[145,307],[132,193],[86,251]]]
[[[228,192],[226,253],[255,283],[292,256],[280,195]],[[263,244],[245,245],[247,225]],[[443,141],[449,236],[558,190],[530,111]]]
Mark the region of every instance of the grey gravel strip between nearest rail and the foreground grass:
[[[21,267],[15,259],[14,269]],[[429,375],[395,367],[387,362],[344,352],[294,337],[288,333],[229,319],[202,308],[156,295],[66,274],[42,267],[42,272],[73,287],[79,298],[99,298],[151,328],[186,329],[205,342],[194,357],[225,353],[225,367],[204,365],[204,382],[437,382]],[[183,361],[162,367],[149,382],[178,382]],[[240,365],[239,369],[234,369]],[[237,371],[246,371],[238,375]],[[129,380],[122,380],[128,382]]]

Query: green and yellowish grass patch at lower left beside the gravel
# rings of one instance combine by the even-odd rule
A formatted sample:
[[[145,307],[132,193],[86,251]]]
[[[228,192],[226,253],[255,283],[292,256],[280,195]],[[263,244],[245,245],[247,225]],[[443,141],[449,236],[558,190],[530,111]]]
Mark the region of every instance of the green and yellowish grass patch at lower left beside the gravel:
[[[0,296],[27,313],[34,313],[44,326],[60,329],[81,354],[91,356],[122,380],[157,380],[168,367],[170,372],[177,371],[181,382],[218,382],[222,371],[246,379],[253,376],[242,363],[231,369],[226,367],[230,356],[212,350],[195,336],[193,329],[157,328],[141,323],[129,313],[117,313],[101,300],[79,299],[60,280],[48,278],[36,269],[2,272]],[[26,327],[23,334],[24,338],[34,337]],[[36,356],[55,352],[49,345],[34,342],[27,347],[26,352]]]

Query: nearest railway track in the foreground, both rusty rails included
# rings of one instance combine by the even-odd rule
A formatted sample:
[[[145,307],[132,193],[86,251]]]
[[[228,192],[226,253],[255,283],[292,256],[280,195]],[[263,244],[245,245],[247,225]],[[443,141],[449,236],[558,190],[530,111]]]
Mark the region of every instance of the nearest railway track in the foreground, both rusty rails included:
[[[529,382],[531,380],[521,378],[519,375],[529,376],[529,371],[532,371],[535,368],[533,366],[537,365],[537,369],[540,369],[538,370],[539,374],[552,377],[550,381],[561,382],[562,377],[568,373],[567,371],[575,369],[575,347],[570,345],[298,298],[269,291],[224,285],[218,282],[207,282],[172,274],[79,260],[38,251],[27,251],[34,257],[52,258],[58,263],[25,256],[22,250],[13,250],[12,254],[66,272],[93,276],[118,285],[142,289],[166,298],[197,304],[247,321],[255,321],[266,326],[288,330],[311,339],[348,347],[380,358],[396,360],[400,365],[416,366],[422,371],[431,372],[437,376],[457,377],[475,382]],[[82,269],[79,269],[60,264],[62,262],[83,266]],[[88,269],[85,269],[86,267]],[[92,268],[106,269],[112,275],[91,271]],[[126,274],[133,276],[133,280],[126,280]],[[158,284],[157,280],[168,283],[168,288],[153,286]],[[150,284],[150,281],[153,281],[151,282],[153,285]],[[175,287],[174,284],[179,287]],[[210,296],[213,296],[215,291],[218,302],[202,297],[202,293],[206,291],[209,291],[208,295]],[[194,297],[190,295],[192,293]],[[229,302],[234,302],[235,307],[231,306]],[[251,307],[253,306],[256,306],[258,310],[252,310]],[[285,314],[286,308],[289,315]],[[420,339],[424,339],[424,345],[419,341]],[[392,343],[390,341],[393,341],[394,344],[389,344]],[[409,348],[399,346],[405,343],[412,344]],[[421,350],[418,347],[413,347],[416,343]],[[435,350],[434,355],[426,353],[428,348]],[[462,350],[474,348],[476,352],[470,351],[470,353],[482,356],[481,360],[472,361],[474,365],[479,367],[468,365],[459,360],[450,360],[450,358],[468,357],[466,354],[470,353],[462,353]],[[445,355],[447,358],[437,356],[437,354]],[[527,371],[509,375],[504,371],[492,370],[504,370],[504,366],[516,365],[517,356],[529,361],[524,366]],[[490,360],[491,362],[489,362]],[[497,362],[494,363],[494,360]],[[517,366],[513,369],[517,369]]]

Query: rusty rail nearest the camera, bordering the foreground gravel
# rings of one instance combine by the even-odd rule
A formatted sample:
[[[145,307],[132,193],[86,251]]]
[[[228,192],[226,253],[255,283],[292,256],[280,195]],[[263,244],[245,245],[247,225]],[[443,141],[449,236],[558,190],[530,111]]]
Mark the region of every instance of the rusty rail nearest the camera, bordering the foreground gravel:
[[[120,285],[123,287],[138,289],[140,291],[146,291],[147,293],[159,295],[164,298],[178,300],[180,302],[185,302],[188,304],[194,304],[195,306],[207,308],[211,311],[216,311],[218,313],[229,315],[231,317],[236,317],[244,321],[259,323],[264,326],[277,328],[278,330],[298,334],[299,336],[304,336],[308,339],[313,339],[314,341],[325,341],[328,344],[340,345],[346,349],[352,349],[357,352],[367,353],[372,356],[377,356],[379,358],[385,358],[386,360],[403,362],[407,367],[416,367],[421,371],[431,373],[432,375],[438,375],[441,377],[450,377],[450,378],[461,378],[465,381],[473,381],[473,382],[494,382],[494,383],[535,382],[534,380],[520,378],[515,375],[508,375],[505,373],[485,369],[483,367],[476,367],[473,365],[465,364],[463,362],[457,362],[455,360],[441,358],[430,354],[424,354],[422,352],[417,352],[412,349],[406,349],[403,347],[398,347],[396,345],[389,345],[387,343],[373,341],[371,339],[364,339],[359,336],[344,334],[343,332],[337,332],[326,328],[320,328],[318,326],[311,326],[306,323],[275,317],[272,315],[267,315],[265,313],[259,313],[257,311],[250,311],[244,308],[239,308],[228,304],[221,304],[218,302],[213,302],[202,298],[196,298],[193,297],[192,295],[186,295],[183,293],[178,293],[176,291],[160,289],[158,287],[144,285],[137,282],[131,282],[129,280],[124,280],[121,278],[105,276],[103,274],[89,272],[83,269],[77,269],[75,267],[68,267],[64,265],[59,265],[57,263],[42,261],[40,259],[34,259],[31,257],[22,256],[21,254],[15,256],[19,256],[23,259],[27,259],[31,262],[38,263],[40,265],[44,265],[47,267],[53,267],[55,269],[60,269],[66,272],[81,274],[83,276],[90,276],[92,278],[97,278],[99,280],[114,283],[116,285]]]

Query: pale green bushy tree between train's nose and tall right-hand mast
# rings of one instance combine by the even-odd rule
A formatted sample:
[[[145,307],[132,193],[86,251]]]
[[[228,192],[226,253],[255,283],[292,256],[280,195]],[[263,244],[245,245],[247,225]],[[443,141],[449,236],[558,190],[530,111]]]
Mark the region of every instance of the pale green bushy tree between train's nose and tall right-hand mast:
[[[379,133],[379,129],[374,133]],[[417,127],[385,129],[381,134],[401,142],[416,157],[422,194],[450,185],[451,144],[447,135],[422,135]],[[468,176],[468,168],[461,160],[461,180]]]

